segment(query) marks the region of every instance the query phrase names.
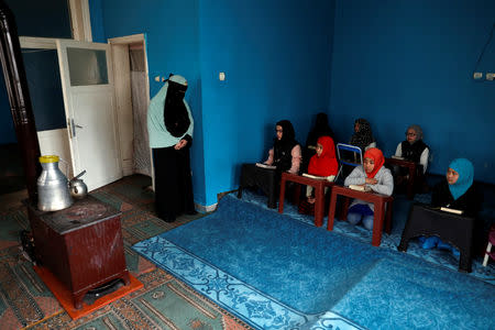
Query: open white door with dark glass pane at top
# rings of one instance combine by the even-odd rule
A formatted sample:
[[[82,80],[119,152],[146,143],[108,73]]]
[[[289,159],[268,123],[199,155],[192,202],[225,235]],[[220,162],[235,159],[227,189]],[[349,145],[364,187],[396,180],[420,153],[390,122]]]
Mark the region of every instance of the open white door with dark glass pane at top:
[[[94,190],[122,177],[108,44],[57,40],[74,174]]]

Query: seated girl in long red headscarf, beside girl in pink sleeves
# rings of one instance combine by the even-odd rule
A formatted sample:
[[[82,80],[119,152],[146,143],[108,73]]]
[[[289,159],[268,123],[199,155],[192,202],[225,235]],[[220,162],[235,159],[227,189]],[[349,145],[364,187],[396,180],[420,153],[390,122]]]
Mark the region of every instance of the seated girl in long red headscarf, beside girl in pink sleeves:
[[[309,160],[308,174],[324,177],[333,182],[339,172],[339,164],[336,157],[336,146],[332,138],[321,136],[318,139],[316,154]],[[315,212],[314,187],[306,187],[306,200],[299,205],[300,213],[312,215]],[[328,187],[324,188],[327,193]]]

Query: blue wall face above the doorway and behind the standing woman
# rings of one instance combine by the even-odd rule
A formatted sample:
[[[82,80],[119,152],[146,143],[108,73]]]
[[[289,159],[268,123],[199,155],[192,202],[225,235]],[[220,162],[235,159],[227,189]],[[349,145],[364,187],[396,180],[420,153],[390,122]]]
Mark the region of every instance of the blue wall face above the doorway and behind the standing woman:
[[[196,0],[91,0],[91,21],[100,24],[98,34],[107,38],[145,33],[151,97],[163,82],[155,76],[169,73],[186,77],[186,100],[195,119],[191,169],[195,200],[205,205],[205,164],[199,74],[198,6]],[[102,22],[102,26],[101,26]],[[99,36],[98,38],[100,38]]]

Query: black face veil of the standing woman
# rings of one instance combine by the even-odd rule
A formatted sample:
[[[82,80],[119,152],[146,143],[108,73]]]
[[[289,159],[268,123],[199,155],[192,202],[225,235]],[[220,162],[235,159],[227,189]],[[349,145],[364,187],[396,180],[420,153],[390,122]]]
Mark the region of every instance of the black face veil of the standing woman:
[[[189,129],[189,114],[184,103],[184,96],[187,90],[187,85],[180,84],[180,79],[175,79],[176,76],[168,78],[167,96],[165,97],[165,106],[163,109],[163,117],[167,131],[175,138],[180,138]]]

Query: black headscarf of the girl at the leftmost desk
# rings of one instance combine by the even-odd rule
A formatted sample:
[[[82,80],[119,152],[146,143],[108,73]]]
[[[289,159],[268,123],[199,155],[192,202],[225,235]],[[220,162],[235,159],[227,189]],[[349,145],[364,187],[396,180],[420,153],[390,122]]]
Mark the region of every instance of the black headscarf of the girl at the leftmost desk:
[[[279,170],[287,170],[292,166],[292,151],[293,147],[299,144],[296,141],[296,133],[294,132],[294,127],[288,120],[280,120],[276,125],[282,127],[282,139],[275,138],[273,146],[273,160],[274,165]]]

